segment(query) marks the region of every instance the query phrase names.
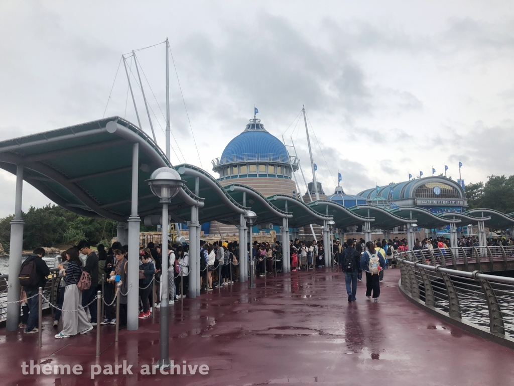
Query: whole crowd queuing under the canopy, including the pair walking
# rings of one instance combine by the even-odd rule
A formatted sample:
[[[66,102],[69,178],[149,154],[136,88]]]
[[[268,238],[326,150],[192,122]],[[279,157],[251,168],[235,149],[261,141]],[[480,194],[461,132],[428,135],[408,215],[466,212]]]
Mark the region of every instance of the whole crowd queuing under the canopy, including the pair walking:
[[[488,245],[512,245],[512,238],[494,238]],[[448,238],[436,237],[416,239],[413,250],[447,248]],[[462,237],[458,239],[459,247],[478,246],[478,239]],[[200,241],[200,286],[210,292],[239,280],[238,261],[240,245],[236,241]],[[292,272],[325,267],[325,248],[322,241],[290,240],[290,267]],[[356,301],[357,284],[363,276],[366,278],[366,297],[378,302],[380,282],[384,270],[395,266],[395,252],[409,250],[407,240],[377,239],[364,242],[347,238],[345,241],[334,240],[330,246],[334,261],[329,266],[338,267],[344,272],[348,302]],[[254,259],[255,278],[264,277],[273,272],[282,272],[283,245],[277,239],[270,244],[254,241],[248,245]],[[115,297],[119,296],[119,328],[127,323],[127,295],[131,290],[127,286],[127,245],[114,242],[106,250],[104,245],[97,246],[96,251],[86,241],[62,253],[59,264],[58,304],[54,313],[53,326],[58,328],[62,319],[62,330],[56,338],[69,338],[77,334],[87,334],[97,324],[98,290],[103,291],[105,306],[100,315],[101,324],[116,324]],[[20,278],[25,272],[27,278],[22,287],[22,320],[20,328],[27,334],[38,332],[38,288],[44,287],[49,276],[49,269],[42,257],[43,248],[36,248],[23,262]],[[250,256],[250,254],[249,254]],[[248,259],[250,258],[248,256]],[[139,283],[133,291],[139,292],[139,318],[148,318],[152,307],[159,308],[161,300],[162,245],[148,243],[139,251]],[[27,273],[30,272],[30,273]],[[118,286],[119,284],[119,286]],[[119,291],[118,291],[119,287]],[[132,286],[131,286],[132,287]],[[189,287],[189,245],[168,244],[168,299],[170,304],[186,297]],[[153,289],[153,291],[152,291]],[[62,310],[62,311],[61,311]]]

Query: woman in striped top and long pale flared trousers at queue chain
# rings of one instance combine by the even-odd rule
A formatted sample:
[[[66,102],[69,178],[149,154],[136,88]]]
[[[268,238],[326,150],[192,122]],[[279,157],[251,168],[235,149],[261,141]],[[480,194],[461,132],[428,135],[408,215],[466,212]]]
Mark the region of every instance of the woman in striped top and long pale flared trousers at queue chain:
[[[82,306],[82,292],[77,284],[82,276],[82,260],[75,248],[70,248],[66,252],[68,268],[59,264],[60,272],[64,276],[66,287],[64,290],[63,302],[63,330],[56,335],[56,339],[69,338],[80,334],[87,334],[93,329],[93,325],[87,320],[86,311]],[[98,266],[98,261],[97,261]]]

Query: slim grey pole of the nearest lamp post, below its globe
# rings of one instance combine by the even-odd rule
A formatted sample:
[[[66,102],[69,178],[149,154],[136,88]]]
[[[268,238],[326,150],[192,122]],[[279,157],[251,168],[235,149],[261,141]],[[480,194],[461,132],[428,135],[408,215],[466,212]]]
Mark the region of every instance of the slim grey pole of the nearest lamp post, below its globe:
[[[162,203],[162,275],[161,306],[159,310],[159,362],[156,367],[166,369],[170,366],[168,298],[168,203]]]

